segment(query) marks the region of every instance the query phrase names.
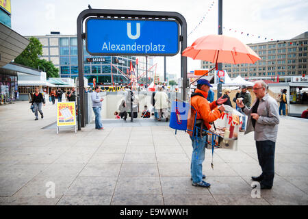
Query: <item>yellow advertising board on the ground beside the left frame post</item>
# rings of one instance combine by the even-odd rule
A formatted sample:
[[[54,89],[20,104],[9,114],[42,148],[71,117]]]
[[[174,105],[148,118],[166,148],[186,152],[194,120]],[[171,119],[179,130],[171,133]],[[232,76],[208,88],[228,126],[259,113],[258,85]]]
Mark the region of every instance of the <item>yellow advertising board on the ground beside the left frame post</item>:
[[[57,126],[76,125],[75,102],[57,103]]]

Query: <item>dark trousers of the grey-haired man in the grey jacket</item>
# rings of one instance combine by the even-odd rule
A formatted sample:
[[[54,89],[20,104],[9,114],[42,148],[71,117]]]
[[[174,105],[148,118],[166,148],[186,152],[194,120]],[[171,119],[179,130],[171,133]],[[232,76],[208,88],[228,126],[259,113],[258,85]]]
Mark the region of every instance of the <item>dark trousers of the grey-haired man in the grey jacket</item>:
[[[274,181],[275,142],[270,140],[256,141],[259,165],[262,169],[261,184],[272,186]]]

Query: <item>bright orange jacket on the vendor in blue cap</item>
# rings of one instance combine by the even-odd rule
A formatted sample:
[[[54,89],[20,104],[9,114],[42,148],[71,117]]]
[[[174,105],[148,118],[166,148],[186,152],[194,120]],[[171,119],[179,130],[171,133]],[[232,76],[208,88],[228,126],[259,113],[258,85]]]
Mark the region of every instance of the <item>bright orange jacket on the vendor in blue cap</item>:
[[[195,96],[194,93],[201,93],[203,94],[204,98],[198,95]],[[198,113],[196,119],[203,119],[204,125],[207,127],[207,129],[210,129],[211,125],[209,125],[209,123],[217,120],[220,117],[221,112],[217,108],[216,101],[213,101],[212,103],[207,101],[207,92],[196,89],[194,93],[192,93],[190,105],[192,105],[192,107],[194,107]],[[194,115],[195,114],[191,112],[190,117],[188,118],[187,127],[190,127],[190,129],[194,127],[194,118],[192,118]],[[188,131],[188,133],[190,133],[190,131]]]

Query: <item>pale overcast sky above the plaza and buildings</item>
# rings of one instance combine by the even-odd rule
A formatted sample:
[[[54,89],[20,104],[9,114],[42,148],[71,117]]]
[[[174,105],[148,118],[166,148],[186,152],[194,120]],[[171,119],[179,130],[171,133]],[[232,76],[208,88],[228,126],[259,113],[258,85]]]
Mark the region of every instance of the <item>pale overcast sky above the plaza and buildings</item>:
[[[188,34],[198,26],[188,36],[188,46],[201,36],[218,33],[218,0],[12,0],[12,29],[23,36],[44,36],[50,31],[77,34],[77,16],[88,4],[97,9],[179,12],[188,23]],[[223,34],[244,43],[287,40],[308,31],[307,11],[307,0],[224,0]],[[163,60],[154,61],[160,75]],[[188,57],[188,71],[200,68],[201,61]],[[167,72],[180,77],[179,54],[167,57]]]

